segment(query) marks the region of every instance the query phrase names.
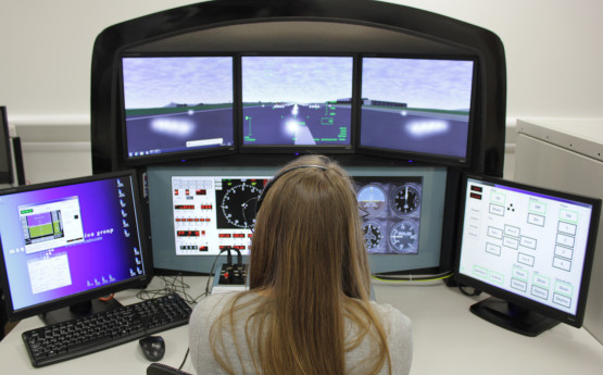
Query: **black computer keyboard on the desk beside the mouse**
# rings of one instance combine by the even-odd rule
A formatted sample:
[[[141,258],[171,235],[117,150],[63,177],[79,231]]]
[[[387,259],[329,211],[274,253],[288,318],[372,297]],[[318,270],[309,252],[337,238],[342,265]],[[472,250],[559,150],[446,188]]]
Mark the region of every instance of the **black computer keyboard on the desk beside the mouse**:
[[[176,293],[23,333],[35,367],[90,354],[188,324],[191,308]]]

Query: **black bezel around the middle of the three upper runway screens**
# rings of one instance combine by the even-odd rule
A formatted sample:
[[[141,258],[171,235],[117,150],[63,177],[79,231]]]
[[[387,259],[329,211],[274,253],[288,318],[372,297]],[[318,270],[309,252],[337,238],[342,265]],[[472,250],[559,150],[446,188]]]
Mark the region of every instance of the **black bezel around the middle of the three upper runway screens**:
[[[243,143],[243,98],[242,98],[242,59],[247,57],[274,57],[274,58],[351,58],[352,59],[352,92],[351,92],[351,118],[350,118],[350,143],[349,145],[244,145]],[[335,52],[246,52],[238,54],[238,102],[240,103],[240,113],[238,121],[238,149],[239,153],[284,153],[284,154],[299,154],[299,153],[354,153],[355,148],[355,127],[356,127],[356,111],[355,97],[357,95],[357,53],[335,53]]]

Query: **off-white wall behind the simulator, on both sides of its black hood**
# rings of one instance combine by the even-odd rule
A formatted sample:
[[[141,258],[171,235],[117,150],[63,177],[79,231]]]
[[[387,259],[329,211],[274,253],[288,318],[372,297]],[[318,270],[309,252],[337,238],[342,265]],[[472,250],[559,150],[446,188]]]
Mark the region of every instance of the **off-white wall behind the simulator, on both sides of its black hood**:
[[[33,183],[91,173],[90,59],[103,28],[193,3],[178,0],[3,0],[0,104],[22,137]],[[391,1],[498,34],[507,58],[507,158],[517,117],[602,118],[600,0]]]

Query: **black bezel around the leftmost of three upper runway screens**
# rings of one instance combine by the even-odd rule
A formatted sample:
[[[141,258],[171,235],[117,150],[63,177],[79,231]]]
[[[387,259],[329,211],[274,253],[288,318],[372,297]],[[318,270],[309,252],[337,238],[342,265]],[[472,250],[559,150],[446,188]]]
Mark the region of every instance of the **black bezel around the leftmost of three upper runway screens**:
[[[125,92],[124,92],[124,65],[123,60],[125,58],[231,58],[233,59],[233,145],[231,146],[216,146],[211,148],[196,148],[185,151],[165,152],[152,155],[143,157],[129,157],[128,155],[128,143],[127,143],[127,123],[126,123],[126,108],[125,108]],[[117,75],[118,75],[118,129],[117,133],[121,135],[121,148],[122,152],[120,157],[123,160],[123,164],[126,167],[133,166],[145,166],[150,164],[159,164],[173,161],[188,161],[194,159],[202,159],[209,157],[227,155],[237,152],[237,139],[239,138],[237,132],[239,126],[237,121],[239,118],[239,103],[237,101],[237,61],[234,53],[224,52],[208,52],[208,53],[196,53],[196,52],[123,52],[117,62]]]

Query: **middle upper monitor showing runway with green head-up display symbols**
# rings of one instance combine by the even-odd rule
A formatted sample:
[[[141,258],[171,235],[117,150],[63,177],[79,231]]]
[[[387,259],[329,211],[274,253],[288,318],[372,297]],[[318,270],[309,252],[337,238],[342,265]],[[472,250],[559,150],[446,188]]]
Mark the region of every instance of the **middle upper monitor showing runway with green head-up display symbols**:
[[[242,151],[352,149],[354,58],[243,55]]]

